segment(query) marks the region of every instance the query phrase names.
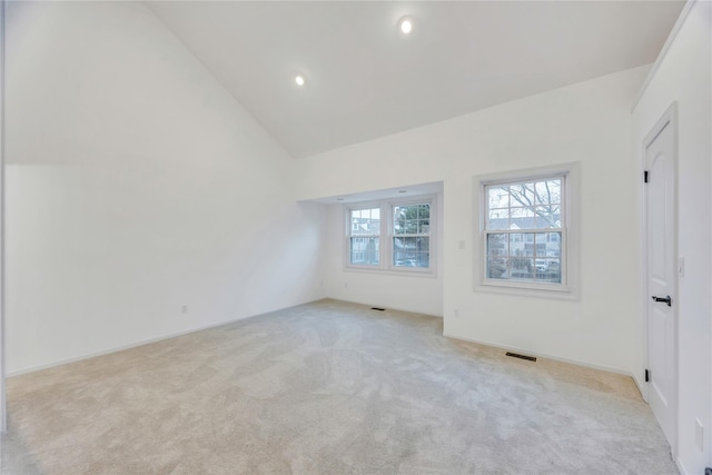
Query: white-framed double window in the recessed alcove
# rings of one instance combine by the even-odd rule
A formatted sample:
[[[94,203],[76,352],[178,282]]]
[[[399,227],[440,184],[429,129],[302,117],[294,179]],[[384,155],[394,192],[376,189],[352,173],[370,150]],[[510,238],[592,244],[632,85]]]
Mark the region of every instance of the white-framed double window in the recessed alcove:
[[[346,267],[432,273],[433,206],[434,198],[424,197],[349,207]]]

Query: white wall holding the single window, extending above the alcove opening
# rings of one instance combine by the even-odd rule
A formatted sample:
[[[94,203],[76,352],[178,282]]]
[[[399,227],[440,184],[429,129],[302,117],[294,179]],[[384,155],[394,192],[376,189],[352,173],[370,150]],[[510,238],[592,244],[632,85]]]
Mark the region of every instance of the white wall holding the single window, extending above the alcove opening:
[[[630,105],[647,70],[622,71],[303,159],[297,196],[443,180],[445,333],[631,372],[632,342],[640,338],[634,334],[640,270]],[[473,176],[571,161],[581,162],[582,174],[581,299],[474,291]],[[333,259],[334,254],[329,266]],[[379,285],[374,280],[364,295]],[[393,306],[405,307],[406,299],[394,296]]]

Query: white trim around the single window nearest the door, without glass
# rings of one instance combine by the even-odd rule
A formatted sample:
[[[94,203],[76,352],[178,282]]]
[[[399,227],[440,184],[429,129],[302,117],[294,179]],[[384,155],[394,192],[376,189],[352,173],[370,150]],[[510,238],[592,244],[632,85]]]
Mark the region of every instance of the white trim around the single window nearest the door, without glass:
[[[562,284],[536,284],[516,280],[494,280],[485,278],[485,187],[512,181],[528,181],[554,176],[564,176],[563,212],[566,246],[562,249],[565,261],[562,265]],[[511,170],[474,177],[474,288],[476,291],[518,295],[527,297],[544,297],[566,300],[577,300],[580,295],[581,274],[581,166],[578,162],[555,166],[536,167],[522,170]],[[564,256],[565,253],[565,256]],[[564,268],[565,266],[565,268]]]

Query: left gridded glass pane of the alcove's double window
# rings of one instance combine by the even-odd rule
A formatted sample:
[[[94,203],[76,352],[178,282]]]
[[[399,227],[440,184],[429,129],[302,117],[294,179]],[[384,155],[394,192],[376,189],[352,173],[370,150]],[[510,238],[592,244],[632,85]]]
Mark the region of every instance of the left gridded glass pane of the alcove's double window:
[[[349,264],[380,265],[380,208],[349,210]]]

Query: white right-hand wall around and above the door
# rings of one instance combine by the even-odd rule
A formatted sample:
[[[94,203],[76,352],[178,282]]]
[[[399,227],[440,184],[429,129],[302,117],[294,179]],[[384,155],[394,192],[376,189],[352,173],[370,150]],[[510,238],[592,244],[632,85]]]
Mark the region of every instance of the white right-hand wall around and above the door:
[[[691,474],[701,474],[705,466],[712,466],[711,31],[712,4],[698,1],[633,111],[634,157],[641,167],[645,136],[670,105],[678,101],[678,246],[679,255],[685,257],[678,295],[678,452],[680,465]],[[636,314],[642,315],[642,309]],[[637,321],[635,331],[643,334],[642,321]],[[645,366],[643,339],[640,342],[635,350],[639,378],[642,375],[637,368]],[[704,426],[704,451],[694,439],[695,418]]]

